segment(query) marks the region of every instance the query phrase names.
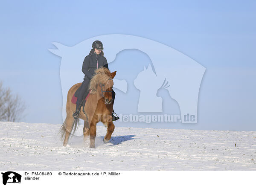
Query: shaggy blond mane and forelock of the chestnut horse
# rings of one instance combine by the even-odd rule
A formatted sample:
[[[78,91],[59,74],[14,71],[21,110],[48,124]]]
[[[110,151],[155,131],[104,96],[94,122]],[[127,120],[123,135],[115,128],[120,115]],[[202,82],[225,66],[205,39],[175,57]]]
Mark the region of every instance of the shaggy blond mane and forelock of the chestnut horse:
[[[105,67],[100,67],[94,71],[96,74],[91,78],[89,89],[90,94],[96,93],[98,84],[107,82],[111,78],[111,72]],[[112,79],[112,78],[111,78]]]

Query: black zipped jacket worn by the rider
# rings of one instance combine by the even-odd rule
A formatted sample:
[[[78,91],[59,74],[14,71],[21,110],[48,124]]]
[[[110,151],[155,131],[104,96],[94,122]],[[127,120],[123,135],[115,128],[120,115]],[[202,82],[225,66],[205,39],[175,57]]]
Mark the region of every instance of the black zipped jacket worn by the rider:
[[[97,55],[94,52],[94,49],[91,49],[89,55],[84,58],[83,62],[82,72],[85,75],[84,79],[91,79],[94,75],[94,70],[98,69],[99,67],[108,68],[107,59],[103,55],[103,51]]]

